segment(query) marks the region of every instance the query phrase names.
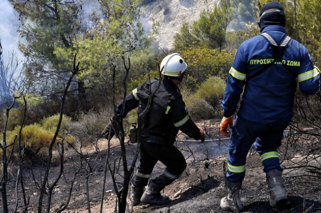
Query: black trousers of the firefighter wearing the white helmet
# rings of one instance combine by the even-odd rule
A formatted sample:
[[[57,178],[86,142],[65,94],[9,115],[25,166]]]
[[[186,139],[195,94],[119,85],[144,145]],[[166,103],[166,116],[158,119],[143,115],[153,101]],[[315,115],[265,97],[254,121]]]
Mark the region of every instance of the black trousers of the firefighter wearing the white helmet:
[[[156,177],[153,181],[162,186],[169,185],[175,178],[169,177],[181,175],[186,168],[186,160],[182,152],[174,145],[166,146],[157,143],[142,141],[140,144],[140,157],[137,171],[140,174],[150,174],[157,161],[166,165],[166,172]],[[145,186],[148,178],[136,175],[134,185]]]

